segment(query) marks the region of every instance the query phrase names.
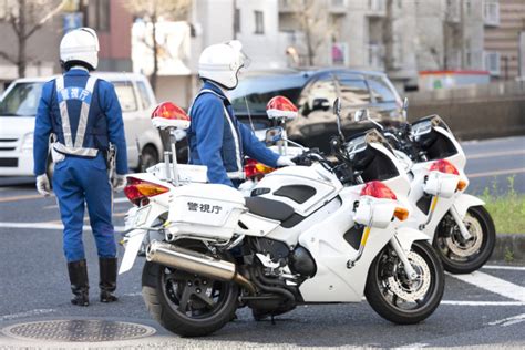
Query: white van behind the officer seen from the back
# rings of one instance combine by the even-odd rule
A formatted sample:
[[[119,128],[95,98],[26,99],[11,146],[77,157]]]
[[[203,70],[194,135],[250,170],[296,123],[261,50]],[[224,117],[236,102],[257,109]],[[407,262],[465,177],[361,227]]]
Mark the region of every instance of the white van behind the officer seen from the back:
[[[115,85],[124,120],[130,168],[157,164],[163,153],[163,143],[150,120],[156,101],[146,78],[134,73],[96,72],[93,75]],[[0,176],[33,175],[34,116],[42,86],[49,80],[50,78],[19,79],[2,94]]]

